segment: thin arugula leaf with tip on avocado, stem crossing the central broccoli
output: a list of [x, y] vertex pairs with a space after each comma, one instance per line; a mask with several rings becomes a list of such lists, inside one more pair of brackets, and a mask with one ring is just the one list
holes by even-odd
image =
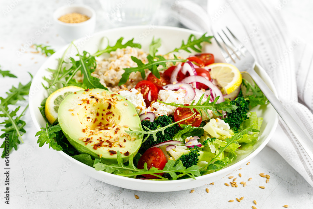
[[[180, 120], [180, 121], [177, 121], [177, 122], [175, 122], [175, 123], [171, 123], [171, 124], [169, 124], [169, 125], [167, 125], [167, 126], [164, 126], [164, 127], [159, 127], [159, 128], [157, 128], [157, 129], [155, 129], [155, 130], [151, 130], [150, 128], [144, 126], [144, 127], [148, 130], [148, 131], [145, 131], [145, 130], [142, 128], [143, 125], [142, 125], [141, 123], [139, 123], [139, 130], [138, 130], [138, 131], [133, 131], [133, 130], [131, 130], [131, 129], [129, 129], [129, 131], [127, 131], [127, 130], [125, 130], [125, 131], [126, 131], [126, 133], [129, 133], [130, 135], [136, 134], [136, 135], [138, 136], [138, 138], [142, 138], [142, 139], [143, 139], [142, 143], [144, 143], [144, 142], [146, 141], [146, 139], [149, 138], [150, 135], [152, 135], [154, 141], [156, 141], [156, 140], [157, 140], [156, 133], [158, 133], [158, 132], [161, 131], [161, 133], [162, 133], [163, 136], [164, 136], [164, 135], [165, 135], [164, 130], [165, 130], [166, 128], [171, 127], [171, 126], [175, 125], [176, 123], [180, 123], [180, 122], [182, 122], [182, 121], [184, 121], [184, 120], [187, 120], [187, 119], [193, 117], [193, 116], [196, 115], [196, 114], [197, 114], [197, 113], [195, 112], [195, 113], [193, 113], [191, 116], [189, 116], [188, 118], [184, 118], [184, 119], [182, 119], [182, 120]], [[146, 136], [146, 138], [143, 138], [145, 134], [147, 134], [147, 136]]]

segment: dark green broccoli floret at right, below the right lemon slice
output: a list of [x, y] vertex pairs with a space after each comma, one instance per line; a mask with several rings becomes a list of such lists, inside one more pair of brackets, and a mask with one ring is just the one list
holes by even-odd
[[248, 118], [249, 100], [244, 99], [242, 91], [240, 90], [238, 97], [231, 101], [230, 104], [236, 105], [238, 108], [232, 110], [232, 112], [228, 112], [227, 117], [224, 120], [235, 132], [237, 132], [243, 120]]

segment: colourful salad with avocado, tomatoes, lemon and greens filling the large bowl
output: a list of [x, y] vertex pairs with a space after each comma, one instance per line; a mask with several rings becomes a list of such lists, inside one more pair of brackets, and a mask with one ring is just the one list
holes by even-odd
[[251, 109], [267, 99], [235, 66], [202, 52], [212, 38], [191, 34], [164, 54], [158, 37], [148, 51], [122, 37], [94, 54], [70, 44], [44, 77], [39, 146], [141, 180], [195, 179], [230, 165], [254, 149], [263, 118]]

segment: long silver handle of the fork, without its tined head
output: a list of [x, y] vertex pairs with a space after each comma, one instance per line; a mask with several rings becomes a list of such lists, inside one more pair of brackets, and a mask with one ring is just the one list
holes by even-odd
[[295, 138], [299, 141], [305, 152], [309, 155], [310, 159], [313, 161], [313, 141], [307, 136], [295, 119], [289, 114], [287, 109], [283, 104], [277, 99], [274, 93], [269, 89], [269, 87], [264, 83], [262, 78], [254, 71], [254, 69], [248, 72], [253, 78], [255, 83], [259, 86], [265, 97], [269, 100], [272, 106], [275, 108], [276, 112], [280, 115], [286, 125], [289, 127], [290, 131], [295, 135]]

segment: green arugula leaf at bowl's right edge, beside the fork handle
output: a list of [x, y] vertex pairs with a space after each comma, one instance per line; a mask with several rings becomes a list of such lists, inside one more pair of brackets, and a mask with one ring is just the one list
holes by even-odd
[[254, 85], [252, 85], [249, 81], [243, 78], [242, 84], [247, 88], [246, 94], [247, 98], [250, 101], [251, 107], [255, 107], [257, 105], [264, 105], [265, 103], [268, 102], [267, 98], [265, 97], [265, 95], [255, 82]]

